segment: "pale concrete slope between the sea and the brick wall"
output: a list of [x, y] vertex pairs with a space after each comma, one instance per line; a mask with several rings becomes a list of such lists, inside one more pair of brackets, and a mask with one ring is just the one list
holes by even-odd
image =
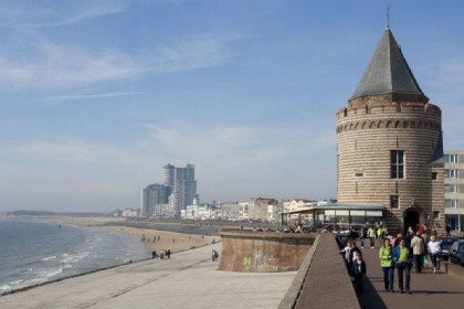
[[221, 243], [0, 297], [0, 308], [277, 308], [296, 271], [218, 269]]

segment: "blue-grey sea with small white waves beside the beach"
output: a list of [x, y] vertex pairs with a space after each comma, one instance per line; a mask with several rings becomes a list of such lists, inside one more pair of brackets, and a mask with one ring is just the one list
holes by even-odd
[[0, 295], [150, 256], [147, 245], [124, 233], [0, 221]]

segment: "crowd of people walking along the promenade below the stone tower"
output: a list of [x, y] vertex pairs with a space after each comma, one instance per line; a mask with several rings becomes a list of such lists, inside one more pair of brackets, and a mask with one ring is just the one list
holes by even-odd
[[[389, 235], [386, 227], [379, 227], [376, 231], [373, 226], [370, 226], [368, 230], [360, 230], [359, 238], [361, 249], [365, 245], [365, 238], [370, 239], [371, 248], [375, 247], [375, 238], [382, 242], [379, 249], [379, 259], [386, 291], [393, 292], [394, 269], [397, 269], [398, 287], [401, 294], [411, 294], [411, 268], [413, 266], [419, 274], [422, 271], [424, 260], [426, 262], [430, 258], [432, 270], [436, 273], [441, 247], [435, 231], [429, 236], [422, 226], [415, 233], [410, 227], [405, 236], [398, 233], [397, 237], [393, 237]], [[357, 247], [356, 241], [350, 239], [347, 246], [340, 251], [345, 254], [348, 271], [355, 283], [357, 292], [363, 292], [362, 278], [366, 276], [366, 263], [362, 260], [361, 249]]]

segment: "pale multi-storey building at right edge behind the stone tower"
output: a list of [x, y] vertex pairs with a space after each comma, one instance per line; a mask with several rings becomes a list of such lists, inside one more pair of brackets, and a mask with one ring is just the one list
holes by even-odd
[[446, 225], [464, 232], [464, 151], [445, 151], [443, 159]]

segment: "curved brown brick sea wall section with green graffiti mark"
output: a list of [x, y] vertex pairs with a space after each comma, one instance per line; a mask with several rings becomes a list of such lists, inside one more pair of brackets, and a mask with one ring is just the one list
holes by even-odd
[[221, 230], [220, 270], [278, 273], [298, 270], [316, 236], [303, 233]]

